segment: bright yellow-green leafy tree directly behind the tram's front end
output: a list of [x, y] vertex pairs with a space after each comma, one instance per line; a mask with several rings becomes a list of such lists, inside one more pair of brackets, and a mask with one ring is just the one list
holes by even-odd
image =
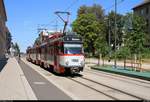
[[82, 14], [72, 25], [74, 32], [80, 34], [84, 39], [84, 48], [87, 52], [95, 54], [94, 42], [101, 32], [101, 25], [97, 22], [95, 15]]

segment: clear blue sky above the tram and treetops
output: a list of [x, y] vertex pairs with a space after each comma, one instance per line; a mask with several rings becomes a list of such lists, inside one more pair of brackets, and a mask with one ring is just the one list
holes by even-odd
[[[115, 0], [4, 0], [7, 27], [12, 35], [12, 41], [19, 44], [21, 52], [26, 52], [28, 46], [32, 46], [38, 37], [38, 28], [55, 30], [56, 21], [58, 29], [63, 29], [63, 22], [54, 14], [55, 11], [69, 11], [69, 22], [77, 17], [77, 10], [82, 5], [92, 6], [99, 4], [108, 14], [114, 10]], [[143, 0], [117, 0], [117, 12], [126, 14]], [[64, 16], [65, 17], [65, 16]]]

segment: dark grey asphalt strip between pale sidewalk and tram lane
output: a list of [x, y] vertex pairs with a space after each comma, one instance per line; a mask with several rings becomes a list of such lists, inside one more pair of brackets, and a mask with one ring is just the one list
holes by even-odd
[[38, 100], [72, 100], [23, 61], [19, 64]]

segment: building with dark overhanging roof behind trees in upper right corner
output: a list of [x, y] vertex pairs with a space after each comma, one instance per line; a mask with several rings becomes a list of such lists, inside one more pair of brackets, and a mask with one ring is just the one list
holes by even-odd
[[146, 20], [146, 45], [150, 46], [150, 0], [144, 0], [141, 4], [133, 8], [134, 13], [142, 16]]

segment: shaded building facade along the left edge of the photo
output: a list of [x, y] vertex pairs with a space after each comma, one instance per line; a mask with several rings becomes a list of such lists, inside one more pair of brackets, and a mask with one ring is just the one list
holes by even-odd
[[4, 1], [0, 0], [0, 58], [3, 58], [6, 53], [6, 41], [7, 41], [6, 21], [7, 16]]

